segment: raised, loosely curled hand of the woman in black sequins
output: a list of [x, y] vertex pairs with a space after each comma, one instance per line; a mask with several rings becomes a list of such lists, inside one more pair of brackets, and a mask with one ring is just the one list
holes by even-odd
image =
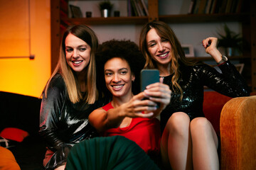
[[222, 55], [217, 49], [217, 42], [218, 42], [218, 38], [210, 37], [203, 40], [202, 43], [203, 43], [203, 47], [205, 47], [206, 49], [206, 53], [211, 55], [214, 58], [215, 62], [218, 63], [222, 59]]

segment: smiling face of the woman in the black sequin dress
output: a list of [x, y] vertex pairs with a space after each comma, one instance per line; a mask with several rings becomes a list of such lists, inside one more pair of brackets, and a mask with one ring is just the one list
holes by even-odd
[[171, 62], [171, 43], [165, 38], [159, 37], [155, 28], [146, 34], [146, 43], [149, 54], [157, 65], [169, 65]]

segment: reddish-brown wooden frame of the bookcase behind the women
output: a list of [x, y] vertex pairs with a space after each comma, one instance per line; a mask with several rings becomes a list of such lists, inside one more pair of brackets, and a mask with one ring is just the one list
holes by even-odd
[[[70, 0], [74, 1], [74, 0]], [[86, 0], [76, 0], [86, 1]], [[110, 0], [111, 1], [111, 0]], [[112, 0], [114, 1], [114, 0]], [[118, 1], [118, 0], [115, 0]], [[127, 0], [128, 1], [128, 0]], [[250, 43], [250, 50], [242, 56], [230, 57], [230, 60], [245, 62], [245, 77], [252, 91], [256, 91], [256, 3], [250, 0], [250, 10], [241, 13], [193, 13], [178, 15], [159, 15], [159, 1], [147, 0], [149, 16], [121, 16], [121, 17], [92, 17], [92, 18], [68, 18], [68, 0], [50, 0], [51, 23], [51, 68], [52, 72], [58, 62], [60, 38], [63, 30], [71, 24], [88, 24], [95, 26], [106, 25], [143, 25], [148, 21], [160, 20], [166, 23], [214, 23], [237, 21], [242, 23], [242, 35]], [[193, 0], [191, 0], [193, 1]], [[202, 0], [201, 0], [202, 1]], [[204, 1], [204, 0], [203, 0]], [[207, 0], [215, 1], [215, 0]], [[226, 0], [230, 1], [230, 0]], [[250, 12], [249, 12], [250, 11]], [[211, 60], [210, 57], [194, 57], [196, 60]]]

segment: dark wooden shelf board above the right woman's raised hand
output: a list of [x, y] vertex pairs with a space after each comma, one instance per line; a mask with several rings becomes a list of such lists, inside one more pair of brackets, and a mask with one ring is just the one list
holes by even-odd
[[160, 21], [166, 23], [210, 23], [220, 21], [239, 21], [243, 23], [250, 22], [249, 13], [216, 13], [216, 14], [182, 14], [159, 16]]

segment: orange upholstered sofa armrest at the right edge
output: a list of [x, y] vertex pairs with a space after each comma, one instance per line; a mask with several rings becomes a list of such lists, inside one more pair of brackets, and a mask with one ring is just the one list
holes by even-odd
[[233, 98], [220, 114], [221, 169], [255, 169], [256, 96]]

